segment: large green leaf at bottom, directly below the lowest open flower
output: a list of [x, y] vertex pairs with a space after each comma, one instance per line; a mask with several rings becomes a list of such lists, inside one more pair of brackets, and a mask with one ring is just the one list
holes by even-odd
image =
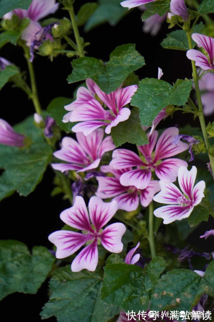
[[55, 270], [50, 280], [52, 295], [41, 318], [56, 316], [58, 322], [107, 321], [119, 309], [100, 299], [102, 279], [97, 272], [71, 271], [71, 266]]

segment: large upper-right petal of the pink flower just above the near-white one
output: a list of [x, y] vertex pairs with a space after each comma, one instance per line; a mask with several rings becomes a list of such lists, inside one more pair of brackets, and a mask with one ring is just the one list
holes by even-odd
[[176, 146], [172, 144], [172, 139], [179, 134], [178, 128], [167, 128], [159, 137], [155, 148], [154, 163], [158, 160], [175, 156], [189, 148], [189, 145], [184, 142], [179, 142]]

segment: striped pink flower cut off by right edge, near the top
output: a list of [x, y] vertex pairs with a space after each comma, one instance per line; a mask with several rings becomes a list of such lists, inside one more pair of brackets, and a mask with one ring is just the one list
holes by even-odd
[[195, 61], [195, 65], [201, 67], [205, 71], [214, 69], [214, 38], [202, 35], [200, 33], [193, 33], [192, 38], [197, 43], [198, 47], [202, 47], [206, 50], [209, 59], [202, 52], [199, 52], [195, 49], [190, 49], [187, 51], [187, 58]]

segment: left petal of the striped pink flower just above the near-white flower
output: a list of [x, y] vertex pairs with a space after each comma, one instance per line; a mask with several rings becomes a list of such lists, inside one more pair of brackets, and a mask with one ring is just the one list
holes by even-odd
[[116, 149], [112, 154], [112, 161], [109, 166], [112, 169], [123, 169], [129, 166], [145, 165], [139, 156], [131, 150]]

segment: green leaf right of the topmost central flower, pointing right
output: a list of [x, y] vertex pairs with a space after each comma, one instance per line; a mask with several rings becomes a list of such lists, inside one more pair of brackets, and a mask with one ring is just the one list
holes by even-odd
[[158, 113], [169, 104], [184, 105], [190, 95], [192, 81], [174, 87], [166, 81], [145, 78], [132, 97], [131, 105], [139, 107], [141, 124], [149, 126]]

